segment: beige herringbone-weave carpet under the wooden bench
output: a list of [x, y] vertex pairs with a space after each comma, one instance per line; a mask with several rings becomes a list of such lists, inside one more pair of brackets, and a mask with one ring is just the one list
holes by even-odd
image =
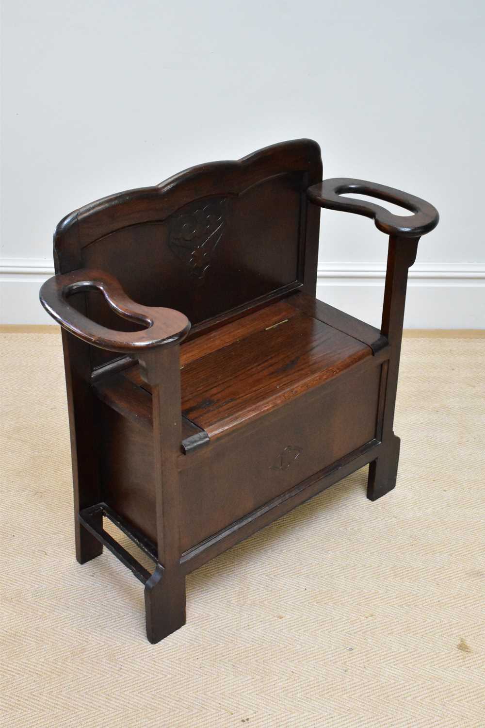
[[406, 338], [396, 490], [361, 470], [194, 572], [157, 646], [129, 571], [74, 559], [60, 337], [1, 356], [6, 726], [485, 726], [485, 339]]

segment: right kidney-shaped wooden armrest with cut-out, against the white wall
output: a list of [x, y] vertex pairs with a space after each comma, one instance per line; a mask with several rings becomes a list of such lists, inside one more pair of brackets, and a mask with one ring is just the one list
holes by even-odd
[[[348, 192], [368, 194], [369, 197], [393, 202], [394, 205], [400, 205], [414, 215], [393, 215], [385, 207], [376, 205], [374, 202], [342, 197], [342, 194]], [[311, 202], [320, 207], [328, 207], [329, 210], [345, 210], [348, 213], [374, 218], [375, 226], [388, 235], [420, 237], [436, 228], [439, 221], [438, 210], [425, 199], [365, 180], [335, 177], [309, 187], [307, 194]]]

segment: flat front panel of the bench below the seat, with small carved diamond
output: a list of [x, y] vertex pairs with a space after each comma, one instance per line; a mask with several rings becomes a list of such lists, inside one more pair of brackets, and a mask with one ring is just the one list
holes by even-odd
[[183, 552], [374, 440], [379, 381], [379, 367], [356, 367], [342, 387], [318, 387], [209, 446], [212, 457], [180, 473]]

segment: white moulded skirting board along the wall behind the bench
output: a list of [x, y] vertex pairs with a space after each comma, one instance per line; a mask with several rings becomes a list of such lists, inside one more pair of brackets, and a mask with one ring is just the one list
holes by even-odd
[[[43, 258], [3, 258], [0, 323], [48, 324], [39, 303], [41, 283], [54, 274]], [[317, 296], [380, 325], [385, 264], [318, 264]], [[405, 328], [485, 328], [485, 264], [416, 263], [409, 270]]]

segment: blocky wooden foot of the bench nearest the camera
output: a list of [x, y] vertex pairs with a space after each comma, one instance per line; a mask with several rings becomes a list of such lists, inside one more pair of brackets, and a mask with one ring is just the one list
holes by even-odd
[[145, 584], [148, 641], [156, 644], [185, 625], [185, 576], [157, 566]]

